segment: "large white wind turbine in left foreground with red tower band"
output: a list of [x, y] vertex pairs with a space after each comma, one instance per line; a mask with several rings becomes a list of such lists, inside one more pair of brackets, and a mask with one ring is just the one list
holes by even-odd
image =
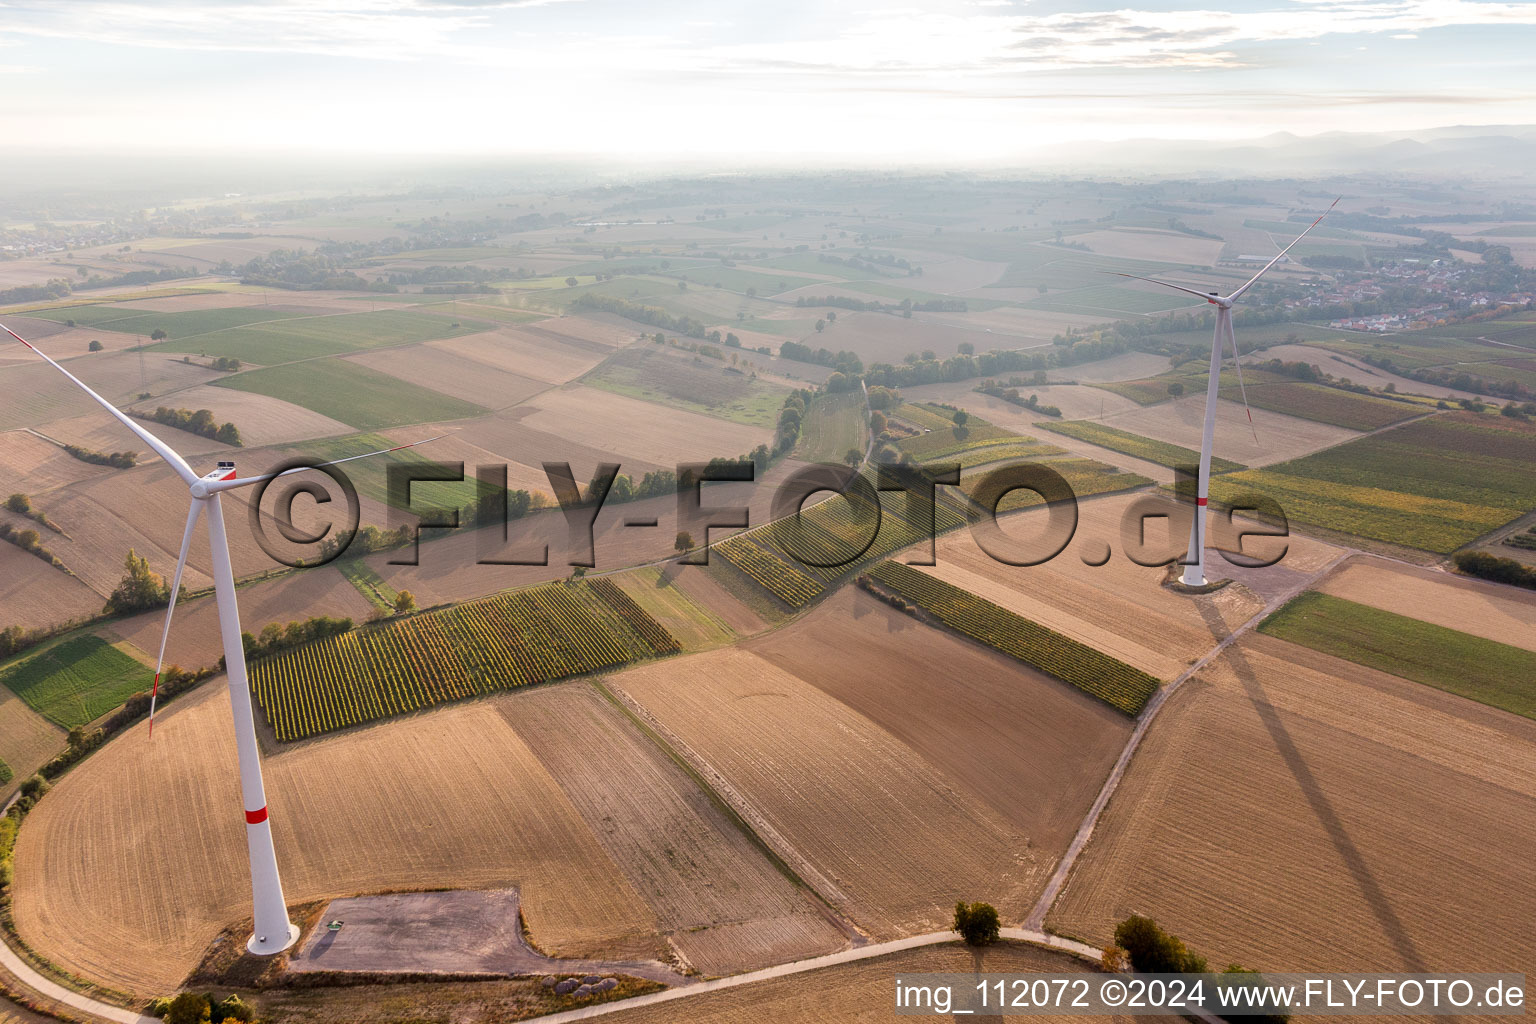
[[155, 688], [149, 705], [149, 732], [155, 729], [155, 699], [160, 695], [160, 668], [166, 657], [166, 639], [170, 636], [170, 614], [177, 608], [177, 594], [181, 590], [181, 571], [186, 568], [187, 548], [192, 545], [192, 528], [200, 516], [207, 514], [209, 553], [214, 560], [214, 599], [218, 605], [218, 629], [224, 642], [224, 671], [229, 676], [229, 708], [235, 717], [235, 751], [240, 758], [240, 795], [246, 811], [246, 847], [250, 854], [250, 897], [255, 904], [255, 930], [246, 943], [246, 949], [258, 956], [281, 953], [298, 941], [298, 927], [289, 921], [287, 904], [283, 900], [283, 881], [278, 877], [276, 851], [272, 847], [272, 823], [267, 820], [266, 786], [261, 781], [261, 752], [257, 748], [257, 726], [250, 711], [250, 683], [246, 677], [246, 648], [240, 634], [240, 608], [235, 603], [235, 571], [229, 560], [229, 537], [224, 533], [224, 510], [220, 507], [220, 494], [249, 487], [261, 481], [270, 481], [289, 473], [303, 473], [306, 468], [319, 465], [336, 465], [355, 459], [367, 459], [375, 454], [413, 448], [436, 438], [416, 441], [396, 448], [384, 448], [367, 454], [355, 454], [333, 462], [323, 462], [315, 467], [301, 467], [284, 473], [267, 473], [264, 476], [235, 477], [233, 462], [220, 462], [218, 468], [204, 476], [198, 476], [186, 459], [175, 453], [164, 441], [154, 436], [141, 425], [129, 419], [121, 410], [92, 391], [74, 373], [63, 368], [45, 353], [38, 352], [29, 341], [22, 338], [5, 324], [0, 330], [11, 335], [23, 345], [41, 356], [48, 365], [69, 378], [81, 391], [94, 398], [118, 422], [132, 430], [147, 444], [155, 454], [175, 470], [177, 476], [187, 485], [192, 496], [192, 508], [187, 511], [186, 533], [181, 534], [181, 554], [177, 557], [177, 573], [170, 583], [170, 605], [166, 608], [166, 626], [160, 636], [160, 657], [155, 662]]

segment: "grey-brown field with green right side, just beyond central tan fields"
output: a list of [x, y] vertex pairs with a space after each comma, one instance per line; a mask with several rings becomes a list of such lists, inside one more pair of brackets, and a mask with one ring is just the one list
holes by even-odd
[[673, 408], [717, 416], [751, 427], [773, 428], [788, 390], [731, 362], [733, 348], [720, 348], [725, 359], [670, 352], [659, 345], [616, 352], [598, 370], [582, 378], [585, 387], [644, 399]]

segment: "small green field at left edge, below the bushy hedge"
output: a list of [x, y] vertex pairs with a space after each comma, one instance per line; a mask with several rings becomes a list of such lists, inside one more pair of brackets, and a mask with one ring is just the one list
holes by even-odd
[[0, 685], [65, 729], [100, 718], [152, 680], [154, 672], [95, 634], [23, 654], [0, 669]]

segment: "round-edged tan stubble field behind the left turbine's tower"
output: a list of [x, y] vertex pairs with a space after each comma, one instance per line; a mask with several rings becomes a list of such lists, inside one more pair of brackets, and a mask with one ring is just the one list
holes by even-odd
[[[141, 996], [177, 987], [250, 912], [223, 682], [174, 702], [155, 734], [111, 742], [34, 808], [12, 887], [34, 949]], [[266, 777], [293, 903], [516, 886], [545, 953], [660, 952], [644, 900], [495, 700], [300, 745]]]

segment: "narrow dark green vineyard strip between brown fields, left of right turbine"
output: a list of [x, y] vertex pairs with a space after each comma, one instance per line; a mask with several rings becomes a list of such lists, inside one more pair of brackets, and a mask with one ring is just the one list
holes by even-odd
[[1160, 685], [1138, 668], [928, 573], [899, 562], [882, 562], [869, 570], [869, 576], [951, 629], [1049, 672], [1129, 715], [1140, 714]]

